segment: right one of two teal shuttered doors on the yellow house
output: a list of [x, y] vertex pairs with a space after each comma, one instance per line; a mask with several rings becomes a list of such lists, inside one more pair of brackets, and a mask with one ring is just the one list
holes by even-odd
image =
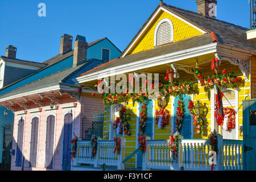
[[[188, 104], [189, 101], [191, 100], [191, 96], [188, 95], [183, 95], [183, 102], [184, 102], [184, 121], [183, 121], [183, 125], [181, 126], [181, 130], [180, 130], [180, 134], [184, 137], [184, 139], [190, 139], [191, 138], [191, 125], [192, 125], [192, 121], [191, 121], [191, 114], [189, 113], [188, 110]], [[177, 103], [179, 102], [179, 96], [177, 96], [174, 100], [174, 127], [173, 129], [175, 130], [175, 121], [176, 121], [176, 111], [177, 111]]]

